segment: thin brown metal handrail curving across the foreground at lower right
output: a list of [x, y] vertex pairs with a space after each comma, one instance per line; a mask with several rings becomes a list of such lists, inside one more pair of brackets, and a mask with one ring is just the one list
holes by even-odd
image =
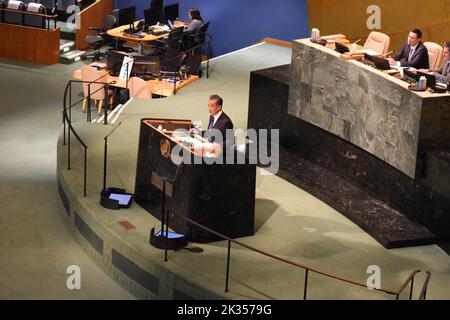
[[[194, 221], [194, 220], [192, 220], [192, 219], [190, 219], [190, 218], [188, 218], [186, 216], [183, 216], [183, 215], [180, 215], [180, 214], [177, 214], [177, 213], [174, 213], [174, 214], [177, 215], [178, 217], [181, 217], [182, 219], [188, 221], [189, 223], [191, 223], [193, 225], [196, 225], [197, 227], [199, 227], [199, 228], [201, 228], [201, 229], [203, 229], [205, 231], [208, 231], [208, 232], [210, 232], [210, 233], [212, 233], [212, 234], [214, 234], [214, 235], [216, 235], [216, 236], [218, 236], [218, 237], [228, 241], [227, 273], [226, 273], [225, 292], [228, 292], [228, 287], [229, 287], [229, 285], [228, 285], [229, 281], [228, 280], [229, 280], [229, 264], [230, 264], [230, 254], [231, 254], [230, 253], [231, 243], [237, 244], [237, 245], [239, 245], [241, 247], [244, 247], [244, 248], [249, 249], [249, 250], [251, 250], [253, 252], [262, 254], [264, 256], [270, 257], [272, 259], [275, 259], [275, 260], [278, 260], [278, 261], [290, 264], [292, 266], [304, 269], [306, 271], [305, 272], [304, 294], [303, 294], [303, 299], [304, 300], [306, 300], [306, 297], [307, 297], [307, 285], [308, 285], [308, 274], [309, 274], [309, 271], [317, 273], [317, 274], [320, 274], [322, 276], [326, 276], [326, 277], [335, 279], [335, 280], [339, 280], [339, 281], [343, 281], [343, 282], [346, 282], [346, 283], [350, 283], [350, 284], [353, 284], [353, 285], [357, 285], [357, 286], [361, 286], [361, 287], [367, 288], [367, 284], [366, 283], [363, 283], [363, 282], [360, 282], [360, 281], [356, 281], [356, 280], [353, 280], [353, 279], [349, 279], [349, 278], [346, 278], [346, 277], [342, 277], [342, 276], [339, 276], [339, 275], [336, 275], [336, 274], [320, 271], [318, 269], [311, 268], [309, 266], [306, 266], [306, 265], [303, 265], [303, 264], [300, 264], [300, 263], [297, 263], [297, 262], [294, 262], [294, 261], [290, 261], [288, 259], [276, 256], [276, 255], [273, 255], [271, 253], [265, 252], [265, 251], [260, 250], [258, 248], [255, 248], [255, 247], [252, 247], [252, 246], [247, 245], [245, 243], [242, 243], [242, 242], [240, 242], [238, 240], [232, 239], [232, 238], [230, 238], [230, 237], [228, 237], [226, 235], [223, 235], [223, 234], [221, 234], [221, 233], [219, 233], [217, 231], [214, 231], [214, 230], [212, 230], [212, 229], [210, 229], [210, 228], [208, 228], [208, 227], [206, 227], [206, 226], [204, 226], [204, 225], [202, 225], [202, 224], [200, 224], [200, 223], [198, 223], [198, 222], [196, 222], [196, 221]], [[167, 252], [167, 248], [166, 248], [166, 252]], [[388, 290], [388, 289], [383, 289], [383, 288], [373, 288], [373, 290], [384, 292], [384, 293], [390, 294], [390, 295], [394, 295], [396, 297], [396, 300], [398, 300], [399, 296], [403, 293], [403, 291], [408, 286], [408, 284], [411, 283], [411, 292], [410, 292], [410, 300], [411, 300], [411, 298], [412, 298], [412, 290], [413, 290], [413, 285], [412, 284], [414, 282], [414, 277], [419, 272], [421, 272], [421, 270], [414, 270], [413, 272], [411, 272], [411, 274], [408, 276], [408, 278], [402, 283], [402, 285], [397, 290]]]

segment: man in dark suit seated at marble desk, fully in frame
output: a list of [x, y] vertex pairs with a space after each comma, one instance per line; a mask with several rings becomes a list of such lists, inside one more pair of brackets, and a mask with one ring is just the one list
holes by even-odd
[[391, 66], [413, 67], [416, 69], [428, 69], [428, 50], [423, 45], [422, 31], [411, 30], [408, 34], [408, 42], [403, 46], [399, 55], [389, 58]]

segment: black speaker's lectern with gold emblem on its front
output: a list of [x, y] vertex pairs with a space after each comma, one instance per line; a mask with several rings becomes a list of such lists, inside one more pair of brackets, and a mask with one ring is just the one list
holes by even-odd
[[[159, 126], [167, 131], [158, 130]], [[193, 139], [200, 139], [200, 143], [189, 147], [171, 135], [175, 129], [190, 127], [191, 121], [141, 120], [136, 203], [161, 219], [162, 180], [158, 173], [164, 167], [165, 171], [176, 172], [173, 181], [166, 182], [166, 210], [173, 230], [194, 242], [222, 240], [177, 216], [182, 215], [231, 238], [253, 235], [256, 165], [203, 162], [206, 151], [219, 155], [213, 144], [196, 136]], [[186, 152], [190, 163], [183, 161], [177, 166], [171, 161], [169, 154], [175, 146]]]

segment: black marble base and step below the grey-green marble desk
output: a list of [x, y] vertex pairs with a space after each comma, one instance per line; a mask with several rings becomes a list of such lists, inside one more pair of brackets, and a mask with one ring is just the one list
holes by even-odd
[[422, 151], [418, 170], [425, 173], [418, 175], [426, 179], [410, 179], [350, 142], [289, 115], [289, 74], [285, 65], [255, 71], [251, 80], [248, 127], [280, 128], [280, 144], [286, 148], [280, 149], [279, 175], [325, 201], [386, 248], [446, 243], [445, 214], [430, 216], [439, 210], [435, 208], [445, 212], [449, 202], [448, 152], [442, 151], [442, 143]]

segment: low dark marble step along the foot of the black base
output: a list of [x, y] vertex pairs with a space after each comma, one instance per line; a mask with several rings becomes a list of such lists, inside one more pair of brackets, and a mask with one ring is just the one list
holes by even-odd
[[277, 176], [324, 201], [387, 249], [437, 242], [437, 237], [427, 228], [357, 184], [283, 147], [280, 147], [280, 170]]

